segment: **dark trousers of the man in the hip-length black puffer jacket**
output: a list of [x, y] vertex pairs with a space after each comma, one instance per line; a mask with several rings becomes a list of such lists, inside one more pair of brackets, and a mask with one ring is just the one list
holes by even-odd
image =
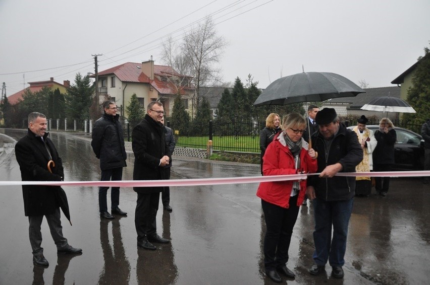
[[[123, 179], [123, 168], [112, 168], [101, 171], [101, 181], [121, 181]], [[109, 187], [98, 188], [98, 207], [100, 212], [108, 211], [108, 201], [106, 195]], [[115, 209], [120, 204], [120, 187], [111, 187], [111, 209]]]

